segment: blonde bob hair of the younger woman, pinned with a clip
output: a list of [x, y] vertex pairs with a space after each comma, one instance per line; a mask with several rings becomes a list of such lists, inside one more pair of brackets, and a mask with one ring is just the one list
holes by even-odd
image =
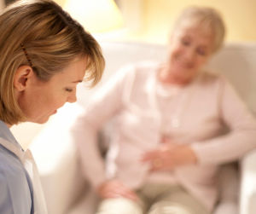
[[21, 0], [0, 14], [0, 119], [7, 124], [26, 121], [15, 98], [15, 72], [30, 66], [20, 46], [23, 43], [33, 72], [49, 81], [73, 61], [88, 59], [84, 81], [90, 87], [102, 78], [102, 49], [89, 32], [51, 0]]

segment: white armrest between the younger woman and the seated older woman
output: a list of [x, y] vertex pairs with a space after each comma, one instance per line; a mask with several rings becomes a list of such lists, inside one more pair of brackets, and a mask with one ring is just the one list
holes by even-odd
[[82, 111], [79, 104], [67, 103], [50, 118], [31, 144], [51, 213], [65, 213], [86, 188], [70, 132]]

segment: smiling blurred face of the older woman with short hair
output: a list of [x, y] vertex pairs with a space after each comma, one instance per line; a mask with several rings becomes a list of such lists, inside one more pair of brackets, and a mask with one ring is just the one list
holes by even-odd
[[173, 78], [189, 81], [212, 54], [213, 35], [201, 26], [181, 26], [170, 41], [168, 70]]

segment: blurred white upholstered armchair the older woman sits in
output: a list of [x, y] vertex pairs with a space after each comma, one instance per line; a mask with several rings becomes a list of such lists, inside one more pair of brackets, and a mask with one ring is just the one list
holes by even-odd
[[[107, 66], [102, 83], [96, 89], [126, 63], [163, 60], [167, 51], [166, 46], [146, 43], [101, 44]], [[256, 113], [256, 43], [226, 44], [224, 49], [212, 58], [208, 66], [230, 79], [251, 111]], [[49, 211], [53, 214], [89, 214], [96, 205], [96, 194], [81, 175], [79, 158], [73, 136], [69, 131], [96, 89], [87, 90], [84, 85], [79, 85], [78, 102], [66, 104], [41, 130], [31, 133], [36, 136], [31, 144], [32, 153], [41, 174]], [[21, 125], [26, 126], [26, 124]], [[215, 213], [236, 214], [238, 213], [236, 201], [238, 176], [232, 168], [223, 171], [224, 175], [231, 177], [231, 180], [222, 185], [222, 200]], [[241, 177], [240, 213], [255, 214], [256, 150], [247, 153], [241, 160]], [[226, 179], [224, 176], [223, 180]]]

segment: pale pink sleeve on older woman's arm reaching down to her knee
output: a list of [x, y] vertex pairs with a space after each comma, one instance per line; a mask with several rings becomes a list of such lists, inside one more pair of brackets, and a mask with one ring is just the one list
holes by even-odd
[[107, 180], [105, 164], [98, 147], [97, 133], [109, 119], [121, 109], [122, 96], [127, 76], [131, 76], [134, 68], [123, 67], [93, 95], [88, 107], [76, 124], [72, 132], [79, 148], [80, 160], [86, 179], [96, 188]]

